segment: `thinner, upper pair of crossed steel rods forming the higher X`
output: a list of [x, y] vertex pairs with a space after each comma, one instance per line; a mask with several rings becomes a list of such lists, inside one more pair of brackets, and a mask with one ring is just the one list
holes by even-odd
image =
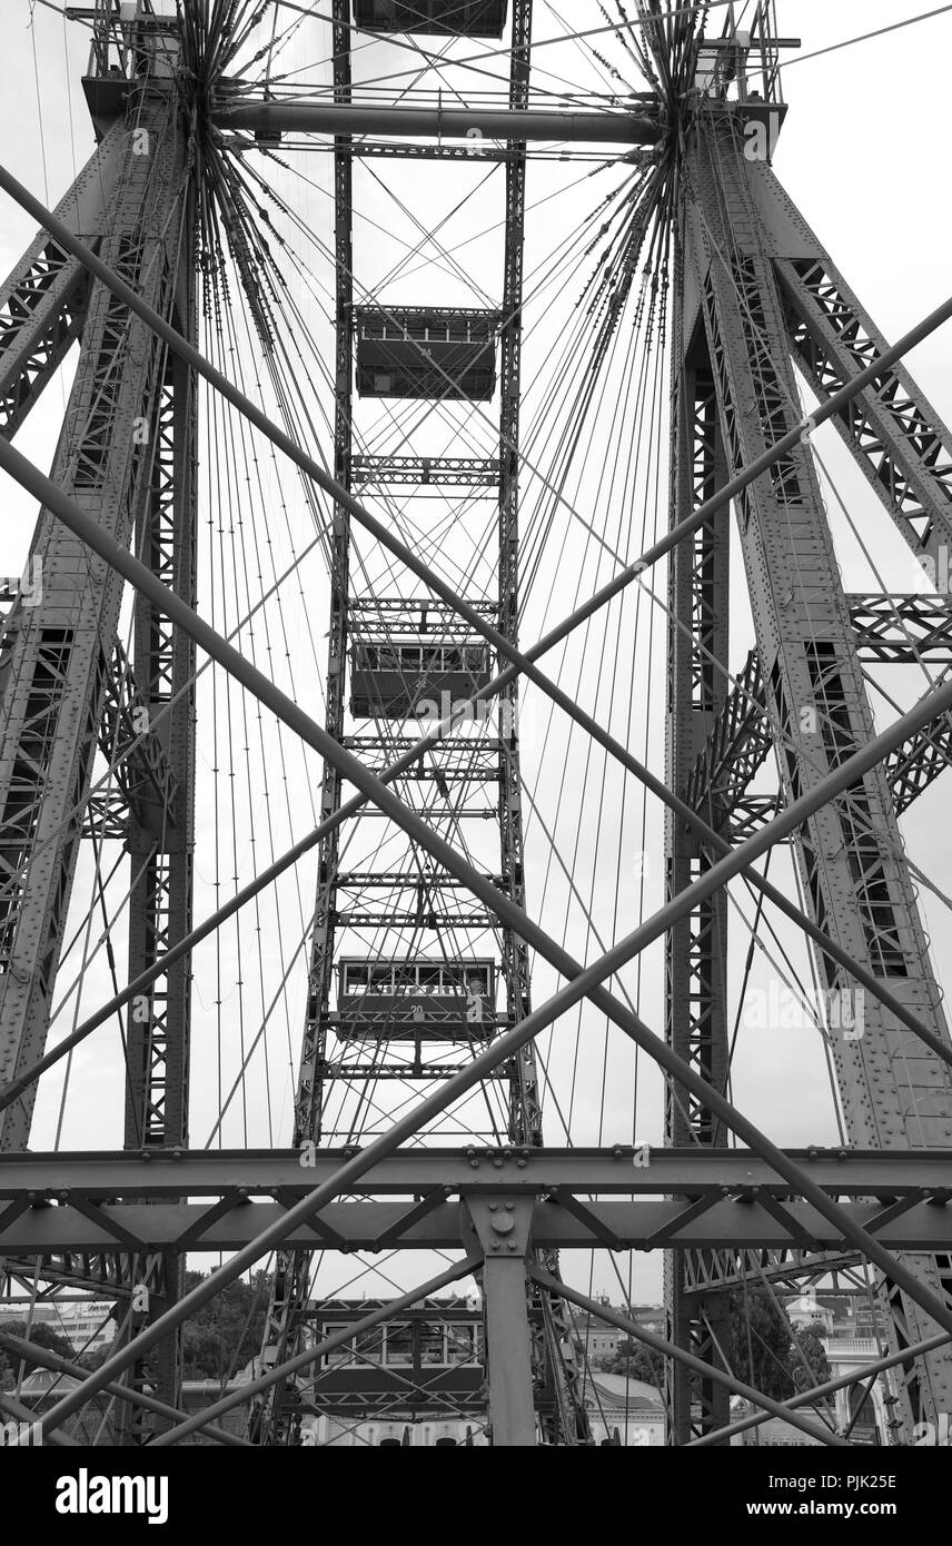
[[[209, 362], [199, 354], [199, 351], [195, 349], [190, 343], [187, 343], [187, 340], [184, 340], [181, 334], [175, 331], [175, 328], [165, 323], [164, 318], [158, 315], [158, 312], [155, 312], [150, 306], [147, 306], [134, 294], [134, 291], [131, 291], [127, 284], [124, 284], [122, 280], [116, 278], [116, 275], [111, 274], [110, 269], [105, 264], [102, 264], [93, 252], [90, 252], [60, 221], [57, 221], [54, 215], [45, 210], [43, 206], [37, 199], [34, 199], [32, 195], [25, 187], [22, 187], [22, 184], [17, 182], [17, 179], [12, 178], [9, 172], [6, 172], [3, 167], [0, 167], [0, 187], [3, 187], [25, 209], [28, 209], [29, 213], [40, 224], [46, 224], [48, 227], [51, 227], [57, 237], [57, 241], [60, 241], [63, 246], [73, 250], [80, 258], [80, 261], [87, 267], [90, 267], [90, 271], [99, 280], [102, 280], [104, 284], [107, 284], [107, 288], [110, 288], [116, 295], [119, 295], [130, 306], [131, 311], [141, 315], [142, 320], [145, 320], [153, 328], [153, 331], [156, 331], [170, 345], [173, 352], [176, 352], [181, 359], [184, 359], [189, 365], [192, 365], [193, 369], [196, 369], [201, 376], [204, 376], [206, 380], [209, 380], [213, 386], [216, 386], [216, 390], [221, 391], [221, 394], [229, 402], [232, 402], [244, 417], [247, 417], [266, 438], [269, 438], [303, 472], [306, 472], [308, 476], [318, 484], [318, 487], [321, 487], [326, 493], [332, 495], [334, 499], [343, 509], [346, 509], [362, 526], [365, 526], [371, 532], [371, 535], [377, 538], [377, 541], [382, 543], [382, 546], [388, 547], [397, 558], [400, 558], [402, 563], [406, 564], [408, 569], [411, 569], [413, 574], [416, 574], [420, 580], [423, 580], [423, 583], [428, 584], [448, 606], [451, 606], [462, 617], [465, 617], [467, 621], [470, 621], [471, 626], [479, 634], [482, 634], [490, 643], [495, 645], [495, 648], [499, 651], [501, 656], [505, 656], [510, 662], [513, 662], [493, 682], [490, 682], [487, 688], [473, 694], [474, 699], [490, 697], [499, 693], [502, 686], [512, 682], [519, 674], [519, 671], [522, 671], [536, 686], [539, 686], [541, 691], [544, 691], [555, 703], [558, 703], [559, 708], [563, 708], [567, 714], [570, 714], [570, 717], [575, 719], [576, 724], [580, 724], [589, 734], [595, 736], [595, 739], [598, 739], [601, 745], [610, 750], [612, 754], [617, 756], [637, 778], [646, 782], [646, 785], [654, 793], [657, 793], [658, 798], [669, 805], [669, 809], [672, 809], [685, 821], [691, 822], [694, 826], [694, 830], [697, 830], [703, 836], [705, 843], [709, 843], [720, 853], [729, 852], [729, 847], [723, 838], [716, 835], [688, 805], [677, 801], [675, 796], [669, 790], [666, 790], [666, 787], [661, 784], [660, 779], [655, 779], [646, 768], [643, 768], [641, 764], [635, 758], [632, 758], [624, 747], [621, 747], [612, 736], [609, 736], [607, 731], [604, 731], [590, 716], [587, 716], [583, 710], [580, 710], [578, 705], [566, 693], [563, 693], [563, 690], [558, 688], [556, 683], [553, 683], [547, 676], [544, 676], [544, 673], [541, 673], [532, 662], [538, 656], [544, 654], [547, 649], [553, 648], [558, 642], [561, 642], [561, 638], [564, 638], [569, 632], [572, 632], [572, 629], [575, 629], [580, 623], [583, 623], [603, 604], [612, 600], [612, 597], [620, 594], [620, 591], [623, 591], [627, 584], [638, 580], [638, 577], [644, 572], [644, 569], [657, 563], [677, 543], [683, 541], [686, 536], [695, 532], [706, 519], [709, 519], [709, 516], [716, 510], [722, 509], [736, 493], [739, 493], [757, 476], [760, 476], [760, 473], [763, 473], [777, 458], [784, 456], [790, 450], [794, 450], [801, 441], [799, 430], [791, 430], [788, 434], [782, 436], [776, 442], [776, 445], [773, 445], [768, 451], [765, 451], [754, 462], [751, 462], [751, 465], [745, 468], [743, 473], [739, 473], [734, 478], [731, 478], [719, 490], [719, 493], [716, 493], [711, 499], [699, 506], [699, 509], [691, 516], [686, 516], [683, 521], [680, 521], [678, 526], [674, 527], [671, 532], [668, 532], [665, 536], [658, 538], [658, 541], [655, 541], [652, 547], [649, 547], [646, 553], [635, 564], [620, 570], [620, 574], [615, 575], [614, 580], [610, 580], [606, 586], [603, 586], [601, 591], [595, 592], [593, 597], [590, 597], [586, 603], [583, 603], [583, 606], [580, 606], [569, 618], [566, 618], [564, 623], [552, 629], [532, 649], [519, 651], [505, 638], [505, 635], [499, 634], [495, 628], [488, 625], [488, 621], [478, 608], [470, 608], [461, 597], [457, 597], [447, 584], [444, 584], [442, 580], [439, 580], [439, 577], [430, 569], [430, 566], [420, 563], [420, 560], [408, 547], [405, 547], [405, 544], [400, 543], [399, 538], [393, 536], [393, 533], [382, 523], [379, 523], [372, 515], [369, 515], [369, 512], [365, 510], [363, 506], [357, 499], [354, 499], [346, 489], [343, 489], [338, 482], [335, 482], [335, 479], [329, 478], [328, 473], [300, 447], [297, 447], [294, 441], [289, 439], [287, 434], [284, 434], [281, 430], [272, 425], [270, 421], [266, 417], [266, 414], [261, 413], [261, 410], [258, 410], [243, 393], [240, 393], [219, 371], [215, 369], [215, 366], [209, 365]], [[867, 386], [870, 382], [876, 380], [887, 365], [890, 365], [893, 360], [899, 359], [904, 352], [913, 348], [918, 342], [921, 342], [923, 337], [935, 331], [935, 328], [938, 328], [950, 315], [952, 315], [952, 300], [946, 301], [927, 318], [924, 318], [923, 323], [920, 323], [903, 339], [899, 339], [899, 342], [895, 343], [890, 349], [887, 349], [884, 356], [881, 356], [876, 362], [873, 362], [865, 371], [861, 371], [858, 376], [855, 376], [847, 383], [847, 386], [844, 386], [839, 393], [830, 397], [827, 404], [818, 408], [818, 411], [813, 414], [813, 424], [814, 425], [821, 424], [825, 417], [830, 417], [833, 413], [838, 413], [848, 399], [852, 399], [856, 393], [862, 391], [864, 386]], [[927, 720], [918, 722], [915, 730], [920, 730], [921, 725], [926, 722]], [[440, 733], [442, 728], [444, 727], [440, 727]], [[430, 745], [433, 745], [434, 741], [437, 739], [439, 734], [425, 737], [420, 742], [417, 742], [417, 747], [413, 751], [410, 751], [405, 758], [402, 758], [397, 764], [393, 765], [389, 775], [386, 775], [388, 781], [389, 778], [399, 776], [400, 771], [410, 767], [417, 759], [417, 756], [422, 756], [425, 750]], [[284, 856], [284, 860], [278, 861], [275, 866], [270, 866], [266, 875], [269, 878], [275, 878], [278, 873], [281, 873], [283, 869], [286, 869], [291, 863], [294, 863], [294, 858], [300, 856], [311, 846], [314, 846], [326, 832], [332, 830], [332, 827], [337, 826], [338, 821], [345, 819], [355, 809], [359, 809], [360, 804], [362, 801], [355, 798], [352, 801], [348, 801], [345, 805], [338, 807], [338, 810], [326, 822], [321, 822], [321, 826], [312, 835], [303, 839], [301, 844], [295, 844], [295, 847]], [[835, 959], [839, 965], [845, 966], [845, 969], [850, 971], [864, 988], [873, 993], [884, 1003], [884, 1006], [889, 1008], [927, 1047], [930, 1047], [930, 1050], [935, 1051], [937, 1056], [943, 1057], [946, 1062], [950, 1061], [949, 1048], [946, 1048], [946, 1045], [938, 1037], [935, 1037], [933, 1033], [929, 1031], [929, 1028], [924, 1027], [921, 1020], [913, 1014], [913, 1011], [904, 1003], [901, 1003], [901, 1000], [896, 999], [895, 994], [892, 994], [884, 986], [884, 983], [875, 979], [847, 952], [844, 952], [833, 938], [830, 938], [822, 929], [818, 929], [818, 926], [804, 914], [801, 914], [799, 909], [793, 908], [791, 903], [782, 895], [782, 892], [773, 887], [768, 881], [763, 881], [760, 877], [754, 873], [751, 873], [748, 878], [754, 886], [757, 886], [763, 892], [763, 895], [770, 897], [770, 900], [776, 906], [779, 906], [791, 918], [794, 918], [794, 921], [797, 921], [797, 925], [804, 928], [818, 945], [821, 945], [825, 954]], [[263, 880], [263, 883], [266, 884], [267, 881]], [[241, 906], [246, 900], [255, 895], [258, 889], [260, 889], [258, 881], [252, 883], [241, 894], [241, 898], [233, 898], [230, 904], [226, 904], [226, 909], [221, 909], [215, 915], [215, 918], [221, 921], [226, 915], [236, 911], [238, 906]], [[209, 920], [206, 925], [201, 926], [201, 937], [206, 937], [206, 934], [212, 932], [212, 929], [215, 928], [215, 918]], [[184, 940], [178, 946], [178, 952], [184, 954], [185, 949], [189, 949], [196, 942], [198, 942], [198, 931], [195, 935], [192, 935], [190, 940]], [[164, 957], [164, 960], [168, 963], [168, 957]], [[147, 985], [148, 980], [150, 979], [145, 974], [141, 976], [136, 980], [134, 991], [142, 991], [142, 988]], [[51, 1059], [56, 1061], [57, 1056], [62, 1056], [68, 1050], [68, 1045], [74, 1045], [76, 1040], [82, 1039], [83, 1034], [88, 1034], [88, 1031], [91, 1031], [97, 1023], [102, 1023], [102, 1020], [108, 1017], [108, 1013], [111, 1013], [111, 1010], [114, 1010], [117, 1003], [125, 1002], [128, 997], [131, 997], [131, 989], [127, 989], [125, 996], [117, 996], [113, 1000], [110, 1010], [100, 1011], [97, 1016], [93, 1016], [91, 1020], [88, 1020], [83, 1027], [79, 1027], [71, 1037], [60, 1042], [53, 1054], [46, 1054], [34, 1065], [34, 1068], [25, 1078], [15, 1081], [14, 1085], [8, 1087], [8, 1090], [0, 1096], [0, 1110], [3, 1108], [5, 1104], [9, 1104], [12, 1098], [19, 1096], [25, 1088], [28, 1088], [29, 1084], [34, 1081], [34, 1078], [40, 1071], [43, 1071], [43, 1068], [51, 1065]]]

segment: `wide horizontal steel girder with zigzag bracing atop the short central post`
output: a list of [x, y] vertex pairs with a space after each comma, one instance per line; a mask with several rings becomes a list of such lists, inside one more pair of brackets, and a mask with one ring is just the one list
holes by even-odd
[[[5, 1155], [0, 1158], [0, 1254], [82, 1251], [238, 1251], [277, 1223], [349, 1150], [141, 1155]], [[816, 1184], [852, 1197], [847, 1212], [890, 1249], [952, 1246], [944, 1152], [799, 1150]], [[644, 1163], [648, 1160], [648, 1163]], [[354, 1201], [332, 1203], [287, 1237], [289, 1248], [453, 1251], [464, 1241], [465, 1198], [478, 1190], [535, 1198], [541, 1248], [652, 1251], [839, 1251], [844, 1237], [790, 1183], [745, 1150], [411, 1150], [374, 1166]], [[134, 1195], [134, 1203], [116, 1201]], [[164, 1203], [161, 1198], [216, 1198]], [[371, 1197], [376, 1194], [376, 1198]], [[380, 1201], [380, 1195], [403, 1201]], [[584, 1201], [580, 1197], [584, 1195]], [[640, 1195], [589, 1203], [589, 1195]], [[652, 1195], [654, 1194], [654, 1195]], [[657, 1194], [666, 1194], [658, 1197]], [[674, 1195], [672, 1195], [674, 1194]], [[267, 1201], [252, 1203], [252, 1197]], [[111, 1201], [105, 1201], [111, 1198]], [[150, 1201], [145, 1201], [150, 1198]], [[277, 1198], [277, 1201], [274, 1201]]]

